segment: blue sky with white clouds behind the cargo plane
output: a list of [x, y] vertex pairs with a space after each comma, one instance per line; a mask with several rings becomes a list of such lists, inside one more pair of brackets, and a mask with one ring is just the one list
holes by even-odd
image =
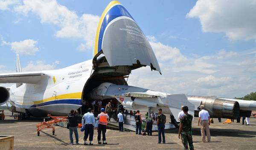
[[[109, 2], [0, 0], [0, 73], [15, 72], [16, 54], [22, 71], [92, 59], [96, 26]], [[129, 85], [225, 98], [256, 92], [255, 0], [119, 2], [148, 38], [162, 71], [133, 70]]]

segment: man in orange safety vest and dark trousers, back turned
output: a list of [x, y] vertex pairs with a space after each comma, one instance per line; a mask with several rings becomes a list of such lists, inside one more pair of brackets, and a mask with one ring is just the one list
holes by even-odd
[[105, 109], [102, 108], [101, 113], [97, 117], [97, 122], [96, 122], [96, 129], [98, 130], [98, 144], [101, 144], [101, 133], [102, 133], [102, 144], [108, 144], [106, 142], [106, 136], [105, 133], [107, 131], [107, 124], [108, 124], [108, 114], [104, 113]]

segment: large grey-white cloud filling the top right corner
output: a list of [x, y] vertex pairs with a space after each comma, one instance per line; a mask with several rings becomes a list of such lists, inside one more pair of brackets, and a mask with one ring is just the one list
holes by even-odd
[[231, 40], [256, 40], [255, 8], [255, 0], [198, 0], [187, 17], [198, 17], [204, 32], [225, 32]]

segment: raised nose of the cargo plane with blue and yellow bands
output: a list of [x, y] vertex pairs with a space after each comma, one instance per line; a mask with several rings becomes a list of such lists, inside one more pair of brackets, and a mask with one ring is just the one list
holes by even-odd
[[108, 4], [96, 30], [93, 65], [104, 54], [109, 66], [137, 69], [150, 66], [161, 73], [147, 38], [131, 14], [118, 1]]

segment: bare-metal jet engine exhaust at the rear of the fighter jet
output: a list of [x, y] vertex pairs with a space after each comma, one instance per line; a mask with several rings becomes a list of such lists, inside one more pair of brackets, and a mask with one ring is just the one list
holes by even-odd
[[216, 96], [188, 96], [188, 99], [189, 101], [201, 101], [201, 105], [204, 105], [211, 118], [236, 119], [239, 117], [239, 103], [237, 101], [225, 100]]

